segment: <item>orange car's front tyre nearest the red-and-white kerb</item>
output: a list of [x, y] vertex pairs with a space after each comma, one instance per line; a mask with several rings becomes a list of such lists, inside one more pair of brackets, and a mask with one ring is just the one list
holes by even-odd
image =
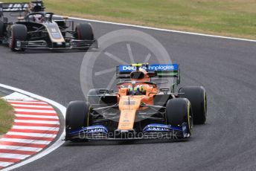
[[65, 113], [66, 138], [70, 141], [81, 141], [81, 138], [71, 138], [68, 133], [74, 132], [90, 124], [90, 105], [84, 101], [71, 101]]

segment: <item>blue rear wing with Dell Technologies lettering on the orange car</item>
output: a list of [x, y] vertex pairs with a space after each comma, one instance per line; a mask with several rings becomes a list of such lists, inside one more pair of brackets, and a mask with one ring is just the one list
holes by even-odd
[[[179, 64], [132, 64], [119, 65], [116, 68], [117, 80], [129, 79], [129, 74], [138, 68], [146, 70], [150, 77], [173, 77], [176, 78], [176, 84], [180, 83]], [[118, 81], [119, 82], [119, 81]]]

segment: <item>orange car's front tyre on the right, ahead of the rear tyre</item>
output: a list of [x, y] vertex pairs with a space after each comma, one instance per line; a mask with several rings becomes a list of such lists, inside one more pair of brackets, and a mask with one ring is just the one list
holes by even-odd
[[174, 98], [167, 101], [166, 123], [171, 126], [181, 126], [182, 123], [188, 124], [188, 131], [191, 133], [193, 126], [193, 115], [191, 103], [186, 98]]

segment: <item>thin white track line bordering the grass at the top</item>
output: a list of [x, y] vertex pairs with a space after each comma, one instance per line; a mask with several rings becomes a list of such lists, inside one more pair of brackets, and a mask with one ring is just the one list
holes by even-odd
[[242, 38], [228, 37], [228, 36], [216, 36], [216, 35], [204, 34], [204, 33], [193, 33], [193, 32], [188, 32], [188, 31], [152, 28], [152, 27], [141, 26], [141, 25], [129, 25], [129, 24], [118, 23], [118, 22], [104, 22], [104, 21], [95, 20], [95, 19], [80, 19], [77, 17], [69, 17], [69, 19], [81, 20], [81, 21], [86, 21], [86, 22], [99, 22], [99, 23], [110, 24], [110, 25], [122, 25], [122, 26], [127, 26], [127, 27], [132, 27], [132, 28], [144, 28], [147, 30], [159, 30], [159, 31], [164, 31], [164, 32], [184, 33], [184, 34], [191, 34], [191, 35], [196, 35], [196, 36], [208, 36], [208, 37], [216, 37], [216, 38], [221, 38], [221, 39], [233, 39], [233, 40], [241, 40], [241, 41], [247, 41], [247, 42], [256, 42], [256, 40], [254, 40], [254, 39], [242, 39]]

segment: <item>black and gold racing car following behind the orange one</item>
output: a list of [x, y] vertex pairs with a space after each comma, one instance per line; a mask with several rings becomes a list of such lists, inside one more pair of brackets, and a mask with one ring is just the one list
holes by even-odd
[[[42, 1], [0, 4], [0, 42], [11, 51], [97, 48], [92, 25], [80, 23], [74, 28], [68, 17], [54, 16], [44, 9]], [[4, 13], [18, 13], [18, 21], [8, 22]]]

